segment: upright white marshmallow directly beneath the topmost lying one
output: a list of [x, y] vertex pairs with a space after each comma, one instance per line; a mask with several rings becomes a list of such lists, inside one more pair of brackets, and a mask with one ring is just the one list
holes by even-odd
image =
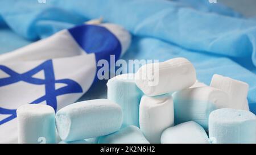
[[171, 95], [143, 95], [139, 105], [139, 127], [150, 143], [160, 143], [164, 129], [174, 125], [174, 102]]

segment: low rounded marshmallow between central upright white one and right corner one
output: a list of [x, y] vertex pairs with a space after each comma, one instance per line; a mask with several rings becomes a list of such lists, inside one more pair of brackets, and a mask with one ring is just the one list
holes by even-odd
[[189, 121], [167, 128], [161, 136], [162, 144], [209, 144], [207, 133], [199, 124]]

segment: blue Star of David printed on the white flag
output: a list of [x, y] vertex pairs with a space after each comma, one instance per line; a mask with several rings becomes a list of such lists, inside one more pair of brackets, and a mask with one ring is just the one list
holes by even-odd
[[[72, 79], [55, 79], [52, 60], [47, 60], [36, 66], [36, 68], [29, 70], [28, 72], [19, 74], [7, 66], [0, 65], [0, 70], [9, 74], [10, 77], [0, 78], [0, 87], [11, 85], [13, 83], [24, 81], [34, 85], [44, 85], [45, 95], [35, 99], [30, 104], [38, 104], [46, 101], [47, 105], [52, 106], [54, 110], [57, 110], [57, 96], [69, 94], [69, 93], [82, 93], [82, 87], [76, 81]], [[44, 71], [44, 79], [32, 77], [40, 71]], [[66, 86], [55, 88], [55, 83], [64, 83]], [[0, 125], [16, 118], [16, 109], [7, 109], [0, 107], [0, 115], [10, 115], [9, 117], [0, 120]]]

